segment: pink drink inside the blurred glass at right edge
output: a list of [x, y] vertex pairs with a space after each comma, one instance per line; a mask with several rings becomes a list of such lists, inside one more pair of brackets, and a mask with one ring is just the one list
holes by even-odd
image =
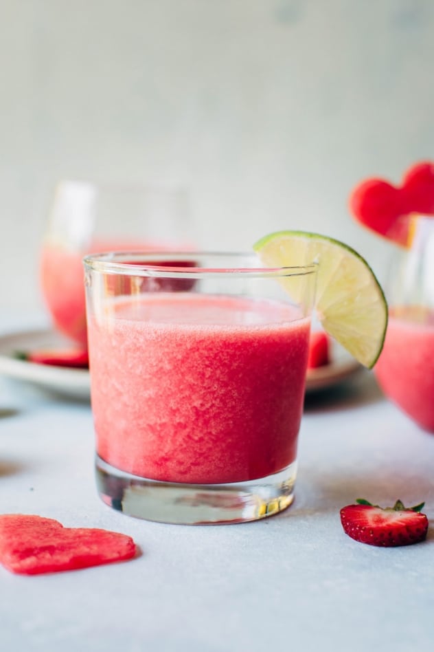
[[399, 317], [391, 310], [375, 373], [385, 394], [434, 433], [434, 311], [408, 309], [406, 318], [402, 309]]

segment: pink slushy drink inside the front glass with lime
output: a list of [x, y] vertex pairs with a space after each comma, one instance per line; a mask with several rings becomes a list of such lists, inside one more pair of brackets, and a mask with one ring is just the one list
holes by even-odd
[[188, 292], [105, 309], [89, 320], [102, 459], [183, 483], [257, 479], [295, 461], [308, 318], [283, 303]]

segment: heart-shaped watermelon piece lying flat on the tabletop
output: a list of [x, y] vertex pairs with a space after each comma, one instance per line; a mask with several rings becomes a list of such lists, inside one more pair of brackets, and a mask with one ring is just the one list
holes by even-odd
[[35, 514], [0, 515], [0, 563], [36, 575], [122, 561], [135, 556], [130, 536], [98, 528], [64, 528]]

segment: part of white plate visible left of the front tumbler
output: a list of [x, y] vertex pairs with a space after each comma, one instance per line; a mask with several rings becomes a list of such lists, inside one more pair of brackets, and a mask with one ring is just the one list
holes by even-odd
[[65, 346], [66, 340], [52, 330], [34, 330], [0, 336], [0, 373], [73, 398], [89, 399], [87, 369], [38, 365], [17, 359], [17, 351]]

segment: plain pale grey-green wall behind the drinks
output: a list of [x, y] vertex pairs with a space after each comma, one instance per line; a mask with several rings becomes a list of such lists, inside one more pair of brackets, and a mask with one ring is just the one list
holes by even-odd
[[62, 177], [181, 182], [207, 248], [387, 246], [350, 189], [434, 157], [431, 0], [0, 0], [0, 305], [41, 305]]

